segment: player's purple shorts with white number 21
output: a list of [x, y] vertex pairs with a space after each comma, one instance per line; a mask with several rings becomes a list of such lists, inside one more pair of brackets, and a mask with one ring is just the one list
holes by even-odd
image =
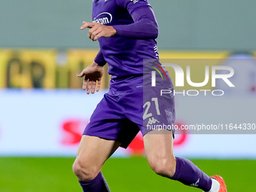
[[151, 87], [151, 74], [111, 81], [111, 88], [96, 106], [84, 135], [115, 140], [127, 148], [139, 130], [171, 130], [175, 121], [172, 93], [160, 96], [162, 89], [173, 90], [172, 81], [157, 78]]

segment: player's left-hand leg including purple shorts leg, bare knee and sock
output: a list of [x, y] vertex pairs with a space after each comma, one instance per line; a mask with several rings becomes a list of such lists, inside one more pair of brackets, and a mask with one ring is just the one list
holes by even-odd
[[108, 191], [100, 169], [120, 145], [117, 135], [122, 126], [120, 118], [124, 117], [118, 113], [123, 111], [118, 99], [119, 97], [106, 93], [93, 111], [90, 122], [84, 130], [73, 165], [73, 171], [84, 191]]

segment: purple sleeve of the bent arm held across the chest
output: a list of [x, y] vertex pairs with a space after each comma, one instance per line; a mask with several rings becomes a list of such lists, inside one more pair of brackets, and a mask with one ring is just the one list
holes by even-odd
[[129, 10], [134, 23], [113, 26], [116, 30], [115, 36], [139, 39], [157, 38], [158, 24], [155, 19], [154, 12], [151, 6], [148, 5], [148, 2], [142, 0], [139, 2], [136, 4], [133, 4], [133, 2], [127, 4], [126, 8]]

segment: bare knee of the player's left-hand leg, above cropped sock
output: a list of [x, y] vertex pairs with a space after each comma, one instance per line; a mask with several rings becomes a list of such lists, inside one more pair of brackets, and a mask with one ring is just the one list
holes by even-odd
[[73, 163], [72, 169], [80, 181], [89, 181], [96, 178], [100, 170], [96, 166], [78, 159]]

